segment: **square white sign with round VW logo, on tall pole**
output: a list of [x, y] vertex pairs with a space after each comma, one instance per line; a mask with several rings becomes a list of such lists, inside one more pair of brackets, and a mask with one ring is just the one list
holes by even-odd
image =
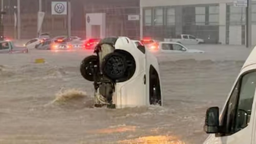
[[52, 15], [67, 15], [67, 2], [51, 2]]

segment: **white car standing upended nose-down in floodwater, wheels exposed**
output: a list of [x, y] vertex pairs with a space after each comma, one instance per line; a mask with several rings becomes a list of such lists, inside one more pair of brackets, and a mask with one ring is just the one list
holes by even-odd
[[125, 108], [162, 105], [156, 57], [127, 37], [105, 38], [80, 66], [82, 76], [94, 82], [94, 106]]

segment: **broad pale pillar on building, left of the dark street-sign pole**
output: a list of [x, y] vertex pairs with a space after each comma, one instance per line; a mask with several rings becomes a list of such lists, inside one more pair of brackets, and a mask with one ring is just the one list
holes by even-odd
[[219, 4], [219, 42], [226, 44], [226, 3]]

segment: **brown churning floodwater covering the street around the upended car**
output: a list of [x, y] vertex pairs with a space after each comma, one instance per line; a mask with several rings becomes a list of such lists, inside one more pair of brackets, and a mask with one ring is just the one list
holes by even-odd
[[205, 53], [157, 54], [163, 107], [125, 109], [92, 108], [79, 71], [92, 51], [1, 54], [0, 143], [202, 143], [207, 108], [223, 106], [250, 49], [190, 47]]

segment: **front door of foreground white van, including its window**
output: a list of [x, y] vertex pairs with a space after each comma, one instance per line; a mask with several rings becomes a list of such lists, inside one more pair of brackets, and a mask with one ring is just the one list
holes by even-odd
[[[238, 79], [220, 116], [219, 144], [251, 144], [255, 112], [256, 71]], [[254, 136], [253, 136], [254, 137]]]

